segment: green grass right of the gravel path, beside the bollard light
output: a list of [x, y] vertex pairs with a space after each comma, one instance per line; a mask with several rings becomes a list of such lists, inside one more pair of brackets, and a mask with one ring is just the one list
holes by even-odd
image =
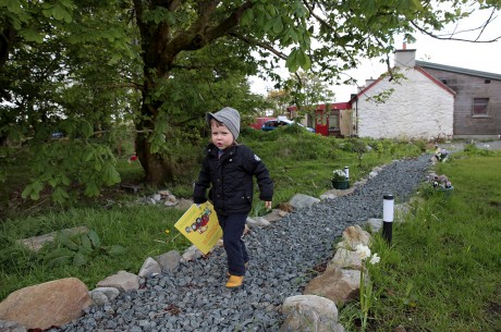
[[[424, 187], [424, 202], [394, 225], [391, 248], [376, 241], [380, 297], [369, 331], [501, 330], [501, 153], [479, 155], [438, 164], [453, 195]], [[356, 331], [353, 315], [353, 305], [341, 313]]]

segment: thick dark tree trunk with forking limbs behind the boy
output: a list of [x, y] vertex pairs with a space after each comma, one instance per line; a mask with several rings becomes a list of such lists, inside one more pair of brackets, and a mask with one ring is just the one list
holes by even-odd
[[228, 32], [239, 25], [242, 15], [254, 5], [254, 1], [245, 1], [215, 26], [212, 26], [210, 19], [216, 12], [219, 1], [196, 1], [203, 8], [199, 9], [199, 15], [194, 20], [190, 28], [183, 32], [173, 32], [172, 27], [166, 22], [144, 21], [143, 16], [146, 10], [154, 11], [160, 7], [174, 13], [182, 1], [134, 0], [133, 3], [142, 38], [140, 48], [145, 77], [140, 109], [143, 120], [136, 125], [136, 153], [145, 170], [146, 182], [158, 186], [164, 182], [172, 181], [180, 168], [172, 160], [168, 160], [168, 157], [151, 153], [151, 144], [148, 137], [155, 130], [155, 121], [163, 100], [159, 100], [160, 97], [156, 96], [157, 85], [162, 78], [169, 76], [169, 72], [172, 70], [175, 58], [180, 52], [199, 50], [227, 35]]

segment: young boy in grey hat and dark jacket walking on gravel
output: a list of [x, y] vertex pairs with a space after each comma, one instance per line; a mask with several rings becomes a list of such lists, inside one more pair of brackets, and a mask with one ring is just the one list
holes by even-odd
[[240, 114], [235, 109], [225, 107], [219, 112], [207, 113], [206, 121], [211, 143], [195, 183], [194, 202], [207, 201], [206, 192], [210, 186], [208, 199], [218, 214], [228, 256], [227, 287], [239, 287], [249, 260], [242, 235], [253, 204], [253, 176], [257, 179], [259, 198], [265, 200], [267, 209], [271, 208], [273, 183], [259, 157], [236, 143]]

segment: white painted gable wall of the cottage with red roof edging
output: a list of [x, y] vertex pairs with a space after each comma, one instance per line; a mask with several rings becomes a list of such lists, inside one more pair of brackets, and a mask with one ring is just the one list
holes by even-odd
[[[401, 69], [407, 79], [379, 81], [358, 97], [358, 136], [372, 138], [452, 137], [454, 96], [415, 69]], [[367, 100], [384, 90], [384, 103]]]

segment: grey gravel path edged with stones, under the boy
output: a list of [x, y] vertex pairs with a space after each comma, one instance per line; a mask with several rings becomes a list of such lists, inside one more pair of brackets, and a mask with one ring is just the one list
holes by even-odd
[[407, 200], [425, 180], [430, 156], [395, 161], [352, 195], [289, 214], [245, 237], [250, 255], [244, 286], [228, 290], [225, 254], [181, 263], [178, 272], [144, 281], [142, 290], [87, 309], [56, 331], [278, 331], [280, 306], [316, 276], [313, 268], [333, 255], [342, 231], [381, 218], [382, 196]]

